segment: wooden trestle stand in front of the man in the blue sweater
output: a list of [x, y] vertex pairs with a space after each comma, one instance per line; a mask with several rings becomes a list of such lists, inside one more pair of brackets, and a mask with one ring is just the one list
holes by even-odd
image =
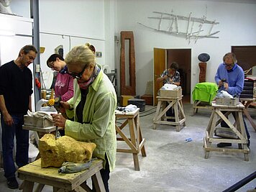
[[[250, 149], [247, 147], [247, 134], [244, 128], [244, 121], [242, 119], [242, 113], [244, 111], [244, 105], [239, 102], [236, 106], [226, 106], [226, 105], [217, 105], [215, 101], [211, 103], [213, 110], [211, 112], [210, 121], [208, 127], [206, 129], [206, 137], [204, 137], [204, 150], [205, 150], [205, 158], [209, 157], [210, 151], [217, 152], [242, 152], [244, 153], [244, 160], [248, 161], [248, 154], [250, 153]], [[222, 114], [221, 111], [227, 111], [226, 114]], [[234, 119], [236, 127], [227, 119], [229, 114], [235, 114]], [[217, 120], [217, 118], [219, 119]], [[219, 138], [214, 137], [214, 131], [216, 126], [220, 124], [222, 121], [226, 122], [230, 129], [237, 135], [237, 139], [229, 139], [229, 138]], [[238, 148], [223, 148], [223, 147], [213, 147], [211, 146], [212, 142], [227, 142], [227, 143], [237, 143]]]

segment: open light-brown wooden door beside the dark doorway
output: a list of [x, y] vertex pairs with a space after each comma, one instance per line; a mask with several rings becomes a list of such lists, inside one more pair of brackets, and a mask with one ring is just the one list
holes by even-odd
[[157, 91], [163, 86], [163, 83], [157, 83], [157, 78], [163, 73], [166, 68], [166, 50], [154, 48], [154, 91], [153, 91], [153, 106], [157, 105]]

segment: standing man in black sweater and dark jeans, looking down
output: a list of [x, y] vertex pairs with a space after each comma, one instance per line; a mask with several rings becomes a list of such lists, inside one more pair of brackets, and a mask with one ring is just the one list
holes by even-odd
[[24, 114], [31, 111], [32, 72], [27, 66], [37, 56], [33, 45], [25, 45], [18, 58], [0, 67], [1, 142], [3, 147], [4, 176], [9, 188], [19, 188], [14, 165], [13, 148], [16, 137], [16, 164], [28, 163], [29, 131], [22, 129]]

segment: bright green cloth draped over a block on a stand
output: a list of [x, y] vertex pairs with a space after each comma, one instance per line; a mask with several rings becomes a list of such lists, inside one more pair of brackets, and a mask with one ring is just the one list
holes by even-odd
[[216, 83], [204, 82], [197, 83], [193, 89], [193, 101], [204, 101], [211, 103], [214, 100], [216, 93], [218, 91], [218, 86]]

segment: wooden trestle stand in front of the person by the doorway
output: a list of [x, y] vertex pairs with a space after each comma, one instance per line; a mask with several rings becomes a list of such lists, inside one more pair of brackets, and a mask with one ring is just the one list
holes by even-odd
[[[179, 132], [181, 128], [186, 127], [186, 117], [183, 111], [182, 96], [176, 98], [157, 96], [157, 99], [158, 104], [157, 111], [155, 112], [155, 117], [153, 119], [153, 129], [156, 129], [156, 124], [173, 125], [176, 127], [177, 132]], [[166, 106], [167, 103], [168, 106]], [[168, 111], [171, 107], [174, 109], [175, 116], [165, 116], [166, 111]], [[165, 121], [163, 118], [164, 116], [166, 119], [175, 119], [175, 122]], [[180, 127], [180, 125], [183, 125], [183, 127]]]

